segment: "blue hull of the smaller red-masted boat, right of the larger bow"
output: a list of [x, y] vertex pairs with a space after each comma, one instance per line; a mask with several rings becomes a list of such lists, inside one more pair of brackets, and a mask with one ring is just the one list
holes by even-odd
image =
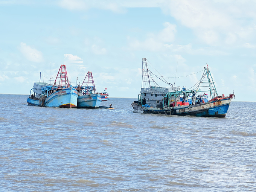
[[99, 108], [100, 105], [100, 94], [81, 95], [77, 98], [77, 108]]

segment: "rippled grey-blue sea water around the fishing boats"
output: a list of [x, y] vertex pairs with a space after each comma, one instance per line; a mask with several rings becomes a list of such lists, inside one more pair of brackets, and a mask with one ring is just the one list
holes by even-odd
[[28, 106], [0, 95], [0, 191], [256, 191], [256, 102], [226, 118]]

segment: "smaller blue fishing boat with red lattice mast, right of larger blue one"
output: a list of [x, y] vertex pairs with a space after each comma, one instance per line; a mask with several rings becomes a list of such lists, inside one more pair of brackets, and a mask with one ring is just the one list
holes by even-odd
[[[85, 84], [85, 85], [84, 85]], [[78, 91], [77, 108], [99, 108], [101, 105], [101, 94], [96, 92], [93, 75], [88, 72]]]

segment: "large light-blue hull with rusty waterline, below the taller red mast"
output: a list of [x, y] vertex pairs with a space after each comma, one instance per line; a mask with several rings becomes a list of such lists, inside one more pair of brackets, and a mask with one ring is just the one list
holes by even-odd
[[45, 107], [76, 108], [78, 94], [75, 88], [64, 88], [50, 94], [44, 102]]

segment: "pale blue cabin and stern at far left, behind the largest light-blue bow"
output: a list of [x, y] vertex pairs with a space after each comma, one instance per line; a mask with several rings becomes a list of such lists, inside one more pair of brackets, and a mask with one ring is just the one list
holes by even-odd
[[[39, 105], [39, 98], [42, 94], [41, 88], [47, 85], [50, 84], [45, 82], [34, 82], [34, 86], [30, 90], [29, 97], [27, 98], [27, 105]], [[33, 91], [34, 94], [31, 94], [31, 91]]]

